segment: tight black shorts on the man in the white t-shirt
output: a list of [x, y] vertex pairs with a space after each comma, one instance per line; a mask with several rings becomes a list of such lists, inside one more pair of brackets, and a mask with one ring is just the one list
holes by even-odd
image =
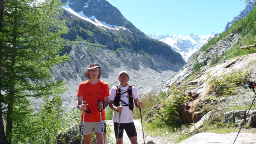
[[[120, 123], [118, 138], [122, 138], [124, 136], [124, 130], [126, 131], [128, 138], [137, 136], [136, 128], [133, 122], [125, 123], [125, 124]], [[114, 131], [115, 131], [115, 136], [117, 138], [118, 122], [114, 122]]]

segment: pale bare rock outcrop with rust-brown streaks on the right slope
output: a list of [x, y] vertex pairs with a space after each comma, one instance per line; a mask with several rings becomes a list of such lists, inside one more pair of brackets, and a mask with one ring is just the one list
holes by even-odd
[[[188, 100], [180, 106], [180, 117], [182, 122], [195, 123], [201, 119], [200, 113], [196, 112], [195, 108], [199, 100], [207, 96], [210, 90], [212, 89], [212, 86], [206, 83], [206, 80], [208, 78], [207, 76], [209, 76], [209, 74], [211, 76], [221, 77], [222, 74], [232, 73], [234, 72], [234, 70], [240, 70], [240, 71], [247, 70], [249, 77], [255, 78], [256, 76], [256, 72], [255, 72], [256, 65], [254, 64], [255, 61], [256, 61], [256, 54], [248, 54], [238, 58], [232, 58], [216, 66], [206, 68], [201, 72], [199, 72], [198, 74], [195, 74], [195, 76], [193, 76], [193, 78], [195, 78], [194, 80], [190, 81], [189, 80], [191, 78], [190, 77], [188, 78], [188, 80], [186, 80], [188, 81], [187, 83], [180, 84], [177, 90], [182, 86], [183, 87], [187, 86], [188, 89], [196, 87], [184, 93], [185, 96], [190, 96], [192, 100]], [[170, 98], [170, 97], [172, 97], [172, 93], [168, 94], [167, 98]], [[162, 107], [161, 103], [155, 106], [155, 108], [161, 108], [161, 107]], [[150, 121], [150, 115], [153, 115], [153, 114], [149, 112], [149, 116], [147, 116], [146, 120]], [[241, 118], [244, 119], [244, 117], [241, 117]], [[252, 120], [252, 122], [254, 122], [254, 120]]]

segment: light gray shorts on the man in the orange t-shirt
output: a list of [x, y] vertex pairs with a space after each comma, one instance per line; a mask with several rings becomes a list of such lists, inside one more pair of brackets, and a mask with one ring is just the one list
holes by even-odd
[[[80, 127], [80, 134], [81, 134], [81, 128], [83, 122], [80, 121], [81, 127]], [[88, 135], [92, 134], [93, 132], [98, 132], [101, 133], [101, 129], [103, 130], [104, 133], [106, 133], [106, 122], [105, 120], [102, 120], [102, 127], [100, 122], [84, 122], [84, 130], [83, 130], [83, 135]]]

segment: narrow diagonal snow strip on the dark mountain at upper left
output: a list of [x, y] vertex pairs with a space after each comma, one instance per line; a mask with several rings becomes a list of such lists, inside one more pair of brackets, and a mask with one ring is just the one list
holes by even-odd
[[61, 7], [64, 8], [65, 10], [67, 10], [68, 12], [70, 12], [71, 14], [74, 14], [78, 18], [81, 18], [83, 20], [91, 22], [92, 24], [94, 24], [96, 26], [109, 28], [109, 29], [113, 29], [113, 30], [126, 30], [126, 28], [124, 28], [123, 26], [116, 26], [116, 25], [113, 26], [110, 24], [106, 24], [106, 22], [101, 22], [101, 21], [97, 20], [94, 16], [91, 16], [89, 18], [83, 14], [83, 11], [75, 12], [74, 10], [72, 10], [72, 8], [69, 7], [69, 2], [65, 6], [61, 6]]

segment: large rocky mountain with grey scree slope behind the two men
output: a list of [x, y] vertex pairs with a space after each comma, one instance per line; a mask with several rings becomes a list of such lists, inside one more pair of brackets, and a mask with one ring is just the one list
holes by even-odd
[[[102, 66], [100, 80], [107, 82], [110, 88], [118, 84], [120, 71], [128, 71], [129, 82], [138, 89], [140, 96], [158, 92], [164, 82], [186, 63], [164, 42], [148, 38], [106, 0], [73, 0], [62, 9], [64, 13], [60, 18], [67, 21], [69, 28], [63, 38], [70, 62], [61, 68], [56, 67], [53, 78], [66, 82], [68, 90], [62, 98], [63, 106], [68, 110], [75, 108], [78, 85], [87, 80], [84, 72], [90, 63]], [[96, 9], [101, 16], [86, 16], [84, 13]], [[116, 23], [108, 22], [113, 17], [118, 18]], [[108, 27], [110, 25], [115, 27]]]

